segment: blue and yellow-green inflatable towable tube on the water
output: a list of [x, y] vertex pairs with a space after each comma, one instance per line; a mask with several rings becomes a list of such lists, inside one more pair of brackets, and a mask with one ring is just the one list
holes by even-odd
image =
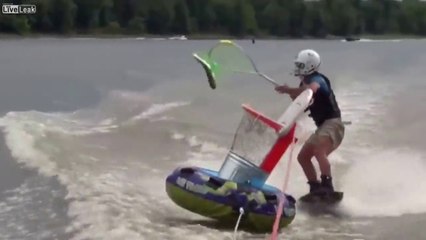
[[[167, 194], [182, 208], [230, 226], [237, 221], [242, 207], [246, 213], [241, 220], [242, 227], [259, 232], [270, 231], [282, 192], [269, 185], [255, 188], [218, 175], [218, 172], [204, 168], [178, 168], [167, 177]], [[290, 224], [296, 214], [294, 198], [284, 196], [280, 227]]]

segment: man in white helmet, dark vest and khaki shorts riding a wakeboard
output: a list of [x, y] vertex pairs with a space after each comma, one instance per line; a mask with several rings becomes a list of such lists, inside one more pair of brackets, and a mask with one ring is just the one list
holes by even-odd
[[[345, 127], [341, 120], [340, 109], [334, 96], [330, 81], [318, 72], [321, 59], [319, 54], [311, 49], [299, 52], [296, 57], [294, 75], [301, 80], [298, 88], [287, 85], [278, 86], [275, 90], [279, 93], [290, 95], [295, 99], [301, 92], [311, 88], [313, 103], [308, 107], [310, 117], [315, 122], [317, 129], [306, 141], [297, 157], [310, 186], [309, 194], [333, 193], [331, 167], [328, 155], [339, 147], [343, 140]], [[321, 182], [312, 164], [312, 157], [319, 163]]]

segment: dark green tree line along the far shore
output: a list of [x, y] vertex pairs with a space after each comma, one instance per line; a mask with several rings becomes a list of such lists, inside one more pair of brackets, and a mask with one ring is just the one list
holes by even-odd
[[12, 0], [34, 15], [0, 15], [15, 34], [218, 34], [324, 37], [426, 35], [421, 0]]

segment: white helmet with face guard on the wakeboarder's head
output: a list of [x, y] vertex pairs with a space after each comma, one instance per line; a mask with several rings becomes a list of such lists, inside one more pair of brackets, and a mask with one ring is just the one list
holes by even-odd
[[294, 60], [294, 75], [295, 76], [306, 76], [313, 72], [318, 71], [319, 65], [321, 64], [320, 56], [317, 52], [312, 49], [305, 49], [297, 54], [296, 60]]

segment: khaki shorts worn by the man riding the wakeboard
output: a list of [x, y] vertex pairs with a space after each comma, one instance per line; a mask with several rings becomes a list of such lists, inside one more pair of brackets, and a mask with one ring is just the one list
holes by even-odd
[[333, 150], [339, 147], [345, 136], [345, 126], [341, 118], [332, 118], [325, 120], [325, 122], [318, 127], [314, 134], [312, 134], [306, 143], [317, 145], [319, 137], [330, 137], [333, 142]]

